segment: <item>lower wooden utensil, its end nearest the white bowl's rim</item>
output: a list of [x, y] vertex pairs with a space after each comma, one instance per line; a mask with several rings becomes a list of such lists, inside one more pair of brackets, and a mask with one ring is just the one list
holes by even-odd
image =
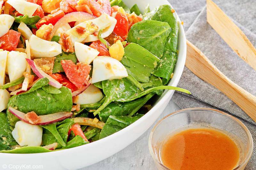
[[226, 94], [256, 122], [256, 97], [236, 85], [225, 76], [191, 42], [187, 40], [187, 59], [185, 64], [196, 76], [210, 83]]

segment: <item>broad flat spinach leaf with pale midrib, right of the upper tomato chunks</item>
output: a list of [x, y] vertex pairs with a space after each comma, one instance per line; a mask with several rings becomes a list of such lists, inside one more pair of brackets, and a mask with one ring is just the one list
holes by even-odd
[[166, 22], [144, 20], [131, 27], [127, 40], [139, 44], [161, 58], [164, 53], [166, 38], [170, 32], [171, 28]]

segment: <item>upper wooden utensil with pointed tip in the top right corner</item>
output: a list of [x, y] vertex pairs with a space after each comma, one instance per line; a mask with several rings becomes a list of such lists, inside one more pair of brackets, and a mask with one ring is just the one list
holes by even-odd
[[256, 49], [236, 24], [212, 0], [207, 0], [207, 22], [236, 54], [256, 70]]

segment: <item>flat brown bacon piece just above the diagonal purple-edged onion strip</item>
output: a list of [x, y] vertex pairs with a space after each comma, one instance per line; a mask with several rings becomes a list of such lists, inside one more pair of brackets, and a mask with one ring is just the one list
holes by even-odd
[[34, 62], [38, 67], [40, 67], [46, 74], [52, 74], [52, 69], [54, 65], [54, 60], [56, 57], [50, 58], [37, 58]]

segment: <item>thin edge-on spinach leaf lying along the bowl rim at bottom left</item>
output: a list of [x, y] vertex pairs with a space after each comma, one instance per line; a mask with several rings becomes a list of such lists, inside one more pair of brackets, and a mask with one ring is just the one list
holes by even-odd
[[[56, 151], [56, 150], [54, 150]], [[53, 152], [49, 149], [46, 149], [41, 146], [26, 146], [26, 147], [20, 147], [9, 151], [0, 151], [1, 153], [43, 153], [43, 152]]]

